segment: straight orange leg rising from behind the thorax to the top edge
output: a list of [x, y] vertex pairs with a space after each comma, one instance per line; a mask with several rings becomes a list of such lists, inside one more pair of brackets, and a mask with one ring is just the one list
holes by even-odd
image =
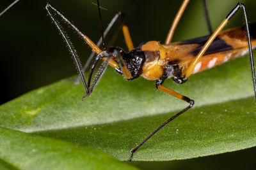
[[165, 39], [165, 43], [164, 43], [165, 45], [168, 45], [171, 43], [175, 29], [176, 29], [177, 25], [179, 24], [180, 18], [182, 16], [182, 14], [184, 13], [184, 10], [186, 9], [188, 3], [189, 3], [189, 0], [184, 0], [183, 3], [181, 4], [179, 11], [177, 12], [177, 14], [175, 16], [175, 18], [172, 22], [172, 26], [170, 27], [170, 30]]

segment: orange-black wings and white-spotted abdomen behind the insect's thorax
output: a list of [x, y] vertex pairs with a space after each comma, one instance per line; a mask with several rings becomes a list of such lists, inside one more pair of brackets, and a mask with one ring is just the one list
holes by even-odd
[[[255, 29], [256, 24], [251, 25], [251, 31]], [[228, 29], [227, 31], [221, 32], [209, 46], [200, 62], [196, 64], [193, 73], [210, 69], [211, 67], [218, 66], [230, 59], [235, 59], [236, 57], [248, 53], [248, 41], [245, 33], [243, 28]], [[252, 46], [255, 48], [256, 33], [251, 32], [251, 36]], [[170, 46], [172, 46], [172, 48], [173, 46], [176, 46], [178, 49], [175, 53], [183, 53], [183, 55], [179, 57], [170, 56], [170, 61], [179, 59], [179, 66], [182, 67], [182, 73], [184, 73], [209, 37], [210, 36], [204, 36], [201, 38], [172, 43]], [[184, 55], [184, 53], [186, 54]]]

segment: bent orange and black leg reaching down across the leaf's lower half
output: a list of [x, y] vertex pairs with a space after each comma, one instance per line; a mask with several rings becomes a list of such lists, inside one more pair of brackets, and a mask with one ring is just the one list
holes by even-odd
[[189, 97], [183, 96], [182, 94], [179, 94], [178, 92], [175, 92], [172, 89], [168, 89], [167, 87], [164, 87], [162, 85], [163, 81], [161, 81], [161, 83], [159, 83], [160, 81], [156, 82], [156, 87], [158, 90], [162, 91], [162, 92], [166, 92], [174, 97], [177, 97], [178, 99], [182, 99], [183, 101], [186, 101], [189, 103], [189, 106], [187, 106], [186, 108], [184, 108], [183, 110], [181, 110], [179, 113], [176, 113], [173, 117], [169, 118], [168, 120], [166, 120], [163, 124], [161, 124], [159, 127], [157, 127], [157, 129], [155, 129], [152, 133], [150, 133], [147, 138], [145, 138], [139, 145], [137, 145], [136, 147], [132, 148], [131, 150], [131, 158], [130, 161], [132, 160], [132, 156], [133, 153], [136, 152], [136, 150], [138, 150], [138, 148], [140, 148], [141, 145], [143, 145], [149, 138], [151, 138], [154, 134], [156, 134], [157, 131], [159, 131], [160, 129], [162, 129], [162, 127], [164, 127], [164, 125], [168, 124], [169, 122], [171, 122], [173, 119], [179, 117], [179, 115], [181, 115], [182, 113], [184, 113], [185, 111], [189, 110], [189, 108], [192, 108], [192, 106], [194, 105], [194, 101], [189, 99]]

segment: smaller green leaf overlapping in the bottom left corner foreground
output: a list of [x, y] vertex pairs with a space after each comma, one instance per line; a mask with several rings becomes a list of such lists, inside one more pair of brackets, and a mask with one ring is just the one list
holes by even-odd
[[135, 169], [99, 150], [33, 134], [0, 128], [0, 138], [8, 169]]

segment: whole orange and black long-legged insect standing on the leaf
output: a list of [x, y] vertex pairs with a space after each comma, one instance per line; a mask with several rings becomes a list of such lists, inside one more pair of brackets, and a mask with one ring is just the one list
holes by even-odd
[[[205, 4], [205, 1], [203, 2]], [[86, 91], [83, 99], [92, 94], [95, 85], [97, 85], [99, 82], [102, 74], [104, 74], [104, 71], [106, 71], [106, 68], [111, 66], [116, 70], [117, 73], [124, 76], [126, 80], [134, 80], [139, 76], [142, 76], [147, 80], [154, 80], [156, 81], [156, 89], [166, 92], [167, 94], [188, 103], [186, 108], [182, 109], [179, 111], [179, 113], [166, 120], [166, 122], [161, 124], [151, 134], [149, 134], [147, 138], [141, 141], [139, 145], [132, 148], [130, 160], [132, 160], [136, 150], [138, 150], [138, 148], [140, 148], [148, 139], [156, 134], [157, 131], [163, 128], [164, 125], [171, 122], [174, 118], [179, 117], [179, 115], [192, 108], [194, 105], [193, 99], [183, 96], [182, 94], [179, 94], [179, 92], [175, 92], [172, 89], [164, 87], [163, 83], [167, 78], [172, 78], [176, 83], [182, 84], [188, 81], [191, 74], [204, 71], [205, 69], [217, 66], [223, 62], [226, 62], [227, 60], [234, 59], [249, 52], [252, 67], [253, 87], [256, 96], [255, 71], [252, 54], [252, 49], [256, 47], [256, 35], [254, 33], [250, 34], [244, 4], [238, 3], [230, 11], [230, 13], [228, 13], [227, 17], [223, 20], [223, 22], [221, 22], [218, 28], [209, 36], [171, 43], [175, 28], [177, 27], [182, 13], [184, 13], [188, 3], [189, 0], [184, 0], [182, 2], [163, 45], [158, 41], [148, 41], [146, 43], [142, 43], [140, 46], [138, 46], [138, 48], [134, 48], [131, 36], [129, 34], [129, 29], [125, 22], [122, 22], [122, 31], [129, 52], [125, 52], [120, 47], [105, 47], [104, 45], [103, 50], [101, 50], [98, 47], [100, 43], [95, 45], [95, 43], [93, 43], [88, 36], [79, 31], [79, 29], [72, 24], [72, 22], [70, 22], [60, 11], [51, 6], [51, 4], [48, 3], [45, 7], [49, 17], [51, 17], [61, 36], [65, 40], [68, 50], [76, 63], [79, 76]], [[97, 4], [99, 16], [101, 16], [99, 0], [97, 1]], [[205, 14], [207, 14], [206, 6], [204, 6], [204, 9]], [[222, 31], [223, 27], [225, 27], [230, 18], [232, 18], [234, 14], [239, 11], [239, 9], [243, 10], [245, 28], [234, 28]], [[90, 67], [87, 83], [86, 79], [84, 78], [84, 69], [81, 67], [76, 50], [74, 50], [74, 47], [72, 46], [71, 41], [68, 39], [67, 34], [65, 34], [60, 24], [54, 17], [55, 15], [58, 15], [66, 24], [70, 25], [70, 27], [72, 27], [72, 29], [74, 29], [74, 31], [76, 31], [77, 34], [84, 39], [84, 41], [86, 41], [90, 48], [92, 48], [92, 51], [97, 53], [97, 56], [93, 60], [93, 64]], [[116, 14], [112, 22], [115, 22], [117, 17], [122, 18], [123, 13]], [[101, 29], [102, 42], [104, 42], [106, 32], [108, 32], [108, 29], [113, 25], [112, 22], [109, 24], [105, 32], [103, 32], [103, 29]], [[207, 23], [209, 31], [211, 32], [211, 25], [209, 24], [208, 17]], [[252, 28], [255, 29], [256, 25], [252, 25]], [[244, 32], [246, 32], [247, 37], [244, 36]], [[99, 60], [104, 61], [102, 62], [100, 69], [95, 74], [94, 80], [92, 80], [92, 74], [95, 71], [95, 66]]]

